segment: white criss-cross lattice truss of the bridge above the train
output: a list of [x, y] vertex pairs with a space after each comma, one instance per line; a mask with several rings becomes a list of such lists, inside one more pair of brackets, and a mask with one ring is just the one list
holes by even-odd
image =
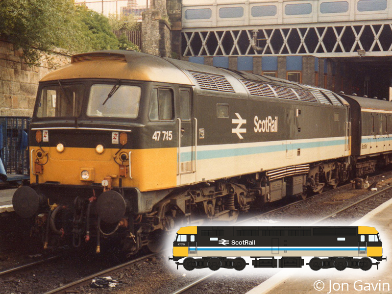
[[[294, 25], [293, 25], [294, 26]], [[259, 49], [252, 47], [257, 31]], [[308, 55], [320, 57], [392, 55], [392, 24], [329, 24], [303, 27], [192, 29], [182, 32], [183, 56]]]

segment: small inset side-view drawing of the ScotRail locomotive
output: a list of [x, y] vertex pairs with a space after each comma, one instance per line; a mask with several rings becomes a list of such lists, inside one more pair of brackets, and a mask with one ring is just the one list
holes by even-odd
[[170, 259], [185, 270], [243, 270], [247, 263], [241, 256], [252, 257], [255, 268], [301, 268], [302, 257], [316, 256], [307, 264], [312, 270], [370, 270], [387, 259], [382, 251], [378, 231], [368, 226], [188, 226], [177, 231]]

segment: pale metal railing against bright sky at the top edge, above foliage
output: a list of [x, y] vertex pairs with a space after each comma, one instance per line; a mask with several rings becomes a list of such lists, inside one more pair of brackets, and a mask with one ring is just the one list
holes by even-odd
[[149, 0], [98, 0], [83, 1], [75, 0], [75, 5], [85, 5], [87, 8], [101, 13], [105, 16], [115, 15], [120, 18], [121, 15], [134, 14], [142, 18], [142, 13], [150, 7]]

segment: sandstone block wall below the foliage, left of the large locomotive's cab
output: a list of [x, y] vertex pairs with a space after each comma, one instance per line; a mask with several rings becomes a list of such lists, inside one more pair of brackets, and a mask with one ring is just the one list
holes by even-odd
[[0, 40], [0, 116], [32, 116], [38, 81], [50, 71], [71, 62], [62, 54], [42, 58], [39, 66], [29, 66], [22, 50]]

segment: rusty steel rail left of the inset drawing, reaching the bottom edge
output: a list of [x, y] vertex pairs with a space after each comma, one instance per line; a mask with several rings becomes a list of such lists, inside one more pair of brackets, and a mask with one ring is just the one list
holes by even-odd
[[78, 279], [78, 280], [73, 281], [73, 282], [71, 282], [71, 283], [65, 284], [65, 285], [63, 285], [63, 286], [61, 286], [61, 287], [58, 287], [58, 288], [53, 289], [53, 290], [50, 290], [50, 291], [45, 292], [45, 293], [43, 293], [43, 294], [63, 294], [63, 293], [70, 293], [70, 291], [72, 291], [72, 290], [73, 290], [74, 288], [76, 288], [76, 287], [85, 286], [85, 285], [90, 284], [90, 280], [93, 279], [93, 278], [95, 278], [95, 277], [102, 276], [102, 275], [107, 275], [107, 274], [110, 274], [110, 273], [115, 272], [115, 271], [117, 271], [117, 270], [121, 270], [121, 269], [123, 269], [123, 268], [126, 268], [127, 266], [130, 266], [130, 265], [132, 265], [132, 264], [136, 264], [136, 263], [140, 263], [140, 262], [146, 261], [148, 258], [157, 256], [158, 254], [160, 254], [160, 253], [162, 253], [162, 252], [163, 252], [163, 251], [158, 252], [158, 253], [151, 253], [151, 254], [148, 254], [148, 255], [139, 257], [139, 258], [137, 258], [137, 259], [128, 261], [128, 262], [126, 262], [126, 263], [123, 263], [123, 264], [114, 266], [114, 267], [112, 267], [112, 268], [108, 268], [108, 269], [106, 269], [106, 270], [101, 270], [101, 271], [99, 271], [99, 272], [90, 274], [90, 275], [85, 276], [85, 277], [83, 277], [83, 278], [81, 278], [81, 279]]

